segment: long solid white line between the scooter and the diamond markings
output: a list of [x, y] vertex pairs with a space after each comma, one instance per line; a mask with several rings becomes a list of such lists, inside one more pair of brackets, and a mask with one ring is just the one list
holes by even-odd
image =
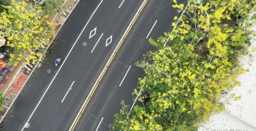
[[[99, 5], [97, 6], [97, 8], [95, 9], [95, 11], [93, 12], [93, 14], [91, 15], [91, 17], [89, 18], [89, 20], [87, 21], [86, 25], [84, 25], [83, 29], [82, 29], [82, 32], [84, 31], [84, 29], [86, 29], [88, 23], [90, 22], [90, 20], [92, 19], [93, 15], [95, 14], [95, 12], [97, 11], [97, 9], [99, 8], [100, 4], [102, 3], [103, 0], [101, 0], [101, 2], [99, 3]], [[65, 58], [65, 60], [62, 62], [62, 64], [60, 65], [57, 73], [54, 75], [51, 83], [49, 84], [49, 86], [47, 87], [45, 93], [42, 95], [42, 97], [40, 98], [39, 102], [36, 104], [36, 107], [35, 109], [33, 110], [32, 114], [29, 116], [29, 119], [27, 120], [26, 123], [29, 122], [29, 120], [31, 119], [31, 117], [33, 116], [33, 114], [35, 113], [35, 110], [37, 109], [37, 107], [39, 106], [40, 102], [42, 101], [42, 98], [44, 98], [44, 96], [46, 95], [47, 91], [49, 90], [50, 86], [52, 85], [53, 81], [55, 80], [55, 77], [57, 76], [59, 70], [61, 69], [61, 67], [63, 66], [63, 64], [65, 63], [65, 61], [67, 60], [67, 58], [69, 57], [71, 51], [73, 50], [74, 46], [76, 45], [76, 42], [78, 41], [78, 39], [80, 38], [80, 36], [82, 35], [82, 32], [79, 34], [78, 38], [76, 39], [74, 45], [71, 47], [67, 57]], [[24, 124], [23, 128], [22, 128], [22, 131], [24, 130], [25, 126], [26, 126], [26, 123]]]

